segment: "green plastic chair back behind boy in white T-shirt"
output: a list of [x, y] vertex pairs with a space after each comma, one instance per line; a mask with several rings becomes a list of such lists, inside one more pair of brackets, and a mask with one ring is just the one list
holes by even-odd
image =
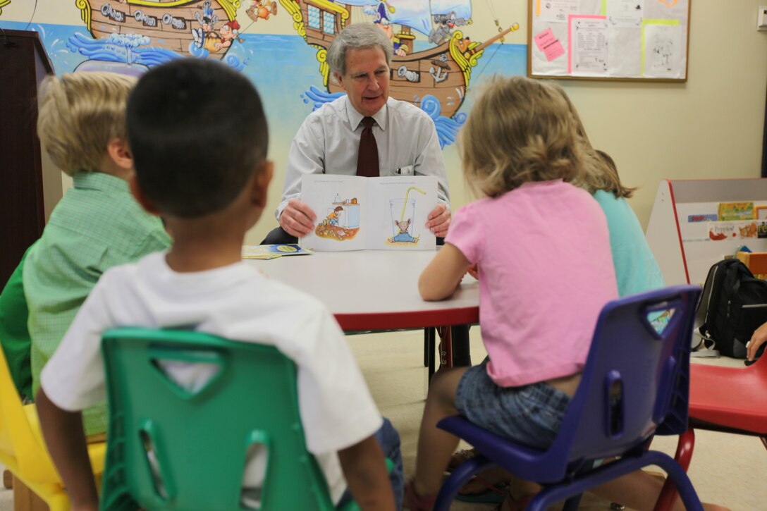
[[[100, 509], [249, 509], [240, 503], [242, 473], [255, 443], [268, 449], [258, 509], [334, 509], [306, 450], [295, 364], [275, 347], [120, 328], [104, 334], [101, 350], [109, 432]], [[186, 391], [160, 361], [211, 364], [216, 372]]]

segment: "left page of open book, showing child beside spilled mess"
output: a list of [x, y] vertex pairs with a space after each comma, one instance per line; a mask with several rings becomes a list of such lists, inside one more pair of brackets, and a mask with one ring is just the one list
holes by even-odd
[[317, 219], [301, 246], [316, 250], [365, 248], [364, 180], [357, 176], [304, 176], [301, 200], [314, 210]]

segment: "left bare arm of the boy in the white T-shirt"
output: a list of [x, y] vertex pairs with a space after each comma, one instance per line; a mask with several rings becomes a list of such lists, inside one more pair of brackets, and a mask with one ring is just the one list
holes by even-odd
[[88, 457], [82, 413], [62, 410], [48, 399], [44, 389], [38, 391], [35, 403], [45, 444], [67, 488], [72, 511], [96, 511], [98, 493]]

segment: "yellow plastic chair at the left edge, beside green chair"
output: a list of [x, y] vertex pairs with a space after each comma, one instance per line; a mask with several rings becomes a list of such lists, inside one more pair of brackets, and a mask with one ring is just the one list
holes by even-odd
[[[104, 472], [107, 443], [88, 444], [97, 486]], [[21, 405], [0, 350], [0, 462], [35, 492], [51, 511], [68, 511], [69, 496], [45, 447], [38, 410], [34, 404]]]

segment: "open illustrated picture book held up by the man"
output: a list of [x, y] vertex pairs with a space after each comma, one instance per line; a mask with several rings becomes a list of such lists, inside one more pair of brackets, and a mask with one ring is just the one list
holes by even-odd
[[338, 176], [311, 174], [301, 181], [301, 200], [317, 219], [301, 239], [311, 250], [435, 250], [426, 219], [436, 207], [434, 176]]

